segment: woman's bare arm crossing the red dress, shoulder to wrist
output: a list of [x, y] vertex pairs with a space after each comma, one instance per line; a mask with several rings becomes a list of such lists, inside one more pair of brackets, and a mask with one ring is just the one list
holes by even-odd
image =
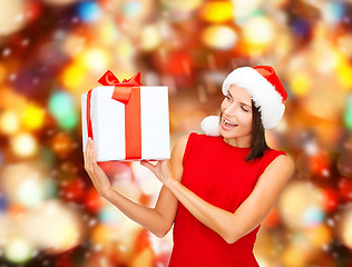
[[193, 216], [216, 231], [226, 243], [232, 244], [262, 222], [277, 200], [282, 188], [291, 177], [292, 170], [293, 164], [290, 158], [283, 155], [278, 156], [265, 169], [252, 194], [234, 214], [217, 208], [196, 196], [174, 179], [170, 170], [165, 171], [159, 179]]

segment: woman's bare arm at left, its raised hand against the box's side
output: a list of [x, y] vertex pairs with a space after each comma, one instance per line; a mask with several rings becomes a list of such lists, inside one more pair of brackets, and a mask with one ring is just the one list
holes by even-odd
[[[183, 137], [175, 144], [170, 157], [170, 166], [175, 179], [178, 181], [180, 181], [183, 174], [182, 159], [187, 139], [187, 136]], [[163, 186], [155, 208], [145, 207], [126, 198], [111, 187], [106, 174], [97, 164], [94, 141], [88, 140], [84, 157], [85, 169], [101, 197], [156, 236], [163, 237], [168, 233], [176, 216], [178, 200], [167, 187]], [[141, 165], [144, 164], [141, 162]]]

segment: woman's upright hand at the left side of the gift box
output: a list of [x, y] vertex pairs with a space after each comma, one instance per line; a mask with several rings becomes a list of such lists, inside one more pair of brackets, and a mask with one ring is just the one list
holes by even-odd
[[100, 166], [97, 164], [97, 150], [94, 146], [94, 140], [88, 138], [85, 157], [85, 169], [89, 175], [92, 185], [101, 197], [105, 197], [108, 190], [111, 189], [110, 181]]

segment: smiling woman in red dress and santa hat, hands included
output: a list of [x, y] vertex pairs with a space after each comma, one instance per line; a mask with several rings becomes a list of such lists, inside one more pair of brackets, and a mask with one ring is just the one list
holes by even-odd
[[154, 208], [114, 190], [87, 142], [85, 168], [104, 198], [158, 237], [175, 222], [169, 266], [258, 266], [256, 233], [293, 170], [285, 152], [265, 142], [287, 97], [275, 71], [238, 68], [223, 93], [221, 116], [202, 122], [206, 135], [179, 138], [170, 159], [156, 166], [140, 161], [164, 184]]

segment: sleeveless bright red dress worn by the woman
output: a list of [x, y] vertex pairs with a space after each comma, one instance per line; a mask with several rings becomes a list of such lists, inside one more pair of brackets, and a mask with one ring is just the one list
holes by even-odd
[[[251, 195], [257, 178], [284, 151], [266, 150], [246, 162], [251, 148], [233, 147], [222, 137], [192, 132], [183, 158], [182, 184], [205, 201], [234, 212]], [[174, 225], [169, 267], [254, 267], [253, 247], [260, 226], [234, 244], [197, 220], [180, 202]]]

